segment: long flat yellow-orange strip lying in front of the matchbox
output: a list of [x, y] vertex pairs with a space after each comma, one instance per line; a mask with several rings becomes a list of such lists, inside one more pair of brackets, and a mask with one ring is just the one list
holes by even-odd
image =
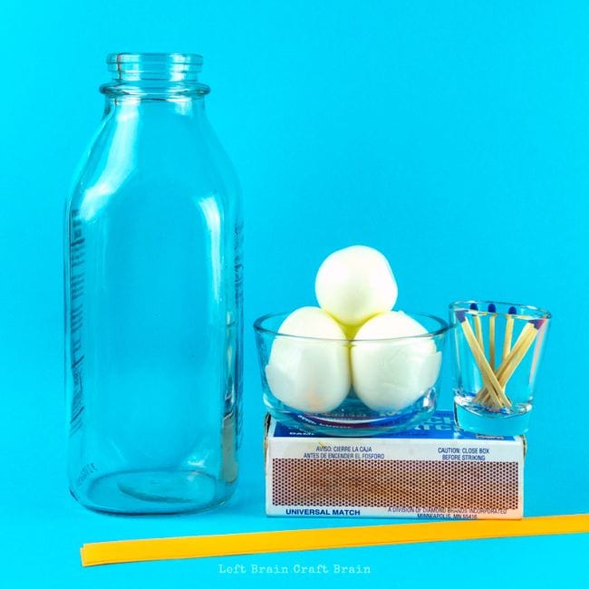
[[187, 536], [84, 544], [82, 565], [111, 565], [149, 560], [257, 555], [273, 552], [386, 546], [446, 540], [546, 536], [589, 532], [589, 514], [475, 520], [387, 526], [328, 527], [222, 536]]

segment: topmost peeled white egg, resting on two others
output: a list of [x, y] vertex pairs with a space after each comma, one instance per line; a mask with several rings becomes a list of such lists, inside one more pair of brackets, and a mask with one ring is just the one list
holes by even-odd
[[343, 323], [348, 334], [375, 314], [390, 311], [397, 302], [397, 283], [381, 252], [351, 246], [333, 252], [315, 279], [319, 306]]

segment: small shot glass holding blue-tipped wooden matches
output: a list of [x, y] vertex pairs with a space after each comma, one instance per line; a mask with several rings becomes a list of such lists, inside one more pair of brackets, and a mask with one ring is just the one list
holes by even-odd
[[526, 433], [551, 314], [493, 301], [449, 305], [454, 419], [489, 436]]

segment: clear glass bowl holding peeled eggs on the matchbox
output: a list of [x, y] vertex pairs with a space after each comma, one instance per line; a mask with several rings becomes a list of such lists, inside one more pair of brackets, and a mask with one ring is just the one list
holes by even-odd
[[254, 329], [269, 413], [298, 429], [350, 437], [408, 430], [427, 420], [449, 326], [430, 314], [407, 314], [427, 333], [322, 339], [279, 333], [286, 313], [260, 317]]

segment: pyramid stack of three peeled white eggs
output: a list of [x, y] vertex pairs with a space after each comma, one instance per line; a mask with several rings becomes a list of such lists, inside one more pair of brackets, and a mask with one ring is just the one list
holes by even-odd
[[[357, 396], [370, 410], [403, 410], [438, 380], [441, 353], [402, 311], [386, 257], [367, 246], [328, 256], [315, 280], [319, 307], [302, 307], [278, 329], [266, 366], [275, 397], [306, 413]], [[284, 335], [284, 336], [282, 336]]]

